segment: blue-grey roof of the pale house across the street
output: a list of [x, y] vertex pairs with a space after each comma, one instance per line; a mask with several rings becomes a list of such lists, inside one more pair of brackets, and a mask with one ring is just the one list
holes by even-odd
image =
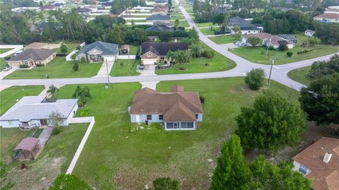
[[110, 55], [110, 54], [117, 54], [118, 53], [118, 44], [112, 44], [112, 43], [107, 43], [107, 42], [93, 42], [92, 44], [87, 44], [81, 52], [81, 53], [87, 53], [90, 52], [92, 49], [97, 49], [102, 52], [102, 55]]

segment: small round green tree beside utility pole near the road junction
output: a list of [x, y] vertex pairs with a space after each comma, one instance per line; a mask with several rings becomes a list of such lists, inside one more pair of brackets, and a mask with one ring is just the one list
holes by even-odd
[[259, 90], [263, 86], [265, 72], [263, 69], [252, 69], [246, 73], [244, 80], [251, 90]]

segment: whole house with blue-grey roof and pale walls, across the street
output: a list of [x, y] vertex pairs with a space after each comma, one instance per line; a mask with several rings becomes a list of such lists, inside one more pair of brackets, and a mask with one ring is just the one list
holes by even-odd
[[119, 45], [107, 42], [93, 42], [87, 44], [79, 52], [77, 58], [85, 57], [88, 61], [102, 61], [103, 59], [115, 60], [119, 54]]

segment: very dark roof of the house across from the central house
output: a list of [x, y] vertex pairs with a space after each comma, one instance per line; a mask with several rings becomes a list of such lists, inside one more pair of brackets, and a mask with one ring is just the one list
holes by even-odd
[[166, 56], [167, 52], [178, 50], [186, 50], [189, 45], [184, 42], [143, 42], [141, 44], [141, 56], [147, 52], [153, 52], [157, 56]]

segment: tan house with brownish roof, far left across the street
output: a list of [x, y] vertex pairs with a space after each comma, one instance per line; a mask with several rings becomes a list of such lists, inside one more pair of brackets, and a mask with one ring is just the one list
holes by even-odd
[[37, 64], [47, 65], [57, 56], [57, 52], [49, 49], [26, 49], [20, 54], [7, 60], [10, 66], [36, 66]]

